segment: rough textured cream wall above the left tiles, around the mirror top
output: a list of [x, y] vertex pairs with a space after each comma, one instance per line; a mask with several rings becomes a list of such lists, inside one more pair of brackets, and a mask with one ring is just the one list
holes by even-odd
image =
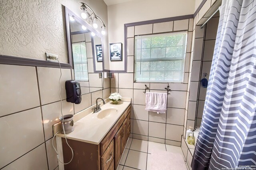
[[108, 25], [103, 0], [0, 0], [0, 54], [45, 60], [48, 52], [68, 63], [62, 5], [80, 15], [79, 2]]

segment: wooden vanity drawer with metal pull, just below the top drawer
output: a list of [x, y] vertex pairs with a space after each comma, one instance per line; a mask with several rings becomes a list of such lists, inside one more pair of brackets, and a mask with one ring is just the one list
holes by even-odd
[[112, 160], [114, 160], [114, 140], [111, 141], [109, 147], [106, 149], [106, 152], [101, 157], [102, 170], [108, 170]]

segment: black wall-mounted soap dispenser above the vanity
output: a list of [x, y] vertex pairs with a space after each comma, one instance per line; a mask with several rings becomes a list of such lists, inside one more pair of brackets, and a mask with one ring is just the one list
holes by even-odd
[[67, 80], [65, 83], [67, 102], [80, 104], [82, 101], [81, 87], [76, 80]]

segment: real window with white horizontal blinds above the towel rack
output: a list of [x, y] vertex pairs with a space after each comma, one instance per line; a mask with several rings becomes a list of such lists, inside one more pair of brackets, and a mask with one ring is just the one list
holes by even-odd
[[187, 33], [135, 37], [135, 82], [183, 82]]

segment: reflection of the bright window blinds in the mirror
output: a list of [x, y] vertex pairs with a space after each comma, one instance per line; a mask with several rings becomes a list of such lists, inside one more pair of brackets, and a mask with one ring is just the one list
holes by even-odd
[[88, 81], [88, 66], [85, 42], [72, 43], [75, 79]]

